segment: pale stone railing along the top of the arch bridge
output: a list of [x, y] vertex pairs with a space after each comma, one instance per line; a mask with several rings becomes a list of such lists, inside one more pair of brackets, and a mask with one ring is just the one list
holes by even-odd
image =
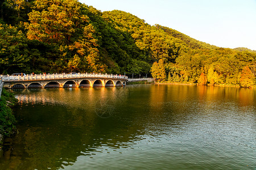
[[77, 73], [77, 74], [35, 74], [24, 76], [10, 76], [3, 75], [3, 82], [24, 81], [24, 80], [49, 80], [49, 79], [69, 79], [69, 78], [116, 78], [116, 79], [128, 79], [125, 75], [113, 75], [113, 74], [95, 74], [95, 73]]

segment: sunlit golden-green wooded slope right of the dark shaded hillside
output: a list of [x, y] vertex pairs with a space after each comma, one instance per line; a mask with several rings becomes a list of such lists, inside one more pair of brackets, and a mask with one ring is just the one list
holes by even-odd
[[113, 20], [117, 29], [129, 32], [138, 48], [151, 56], [154, 62], [151, 73], [155, 78], [167, 82], [235, 85], [241, 83], [241, 73], [248, 66], [251, 84], [255, 83], [253, 52], [219, 48], [171, 28], [150, 26], [123, 11], [104, 12], [104, 16]]

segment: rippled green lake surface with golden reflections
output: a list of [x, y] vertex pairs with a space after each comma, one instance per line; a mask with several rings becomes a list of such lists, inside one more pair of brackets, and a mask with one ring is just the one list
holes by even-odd
[[15, 91], [0, 169], [255, 169], [256, 90], [132, 85]]

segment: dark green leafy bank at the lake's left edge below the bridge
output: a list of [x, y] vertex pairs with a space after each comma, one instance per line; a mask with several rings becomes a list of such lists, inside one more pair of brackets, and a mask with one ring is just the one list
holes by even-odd
[[16, 120], [11, 107], [13, 107], [17, 101], [13, 94], [3, 89], [0, 101], [0, 134], [4, 137], [10, 137], [16, 131]]

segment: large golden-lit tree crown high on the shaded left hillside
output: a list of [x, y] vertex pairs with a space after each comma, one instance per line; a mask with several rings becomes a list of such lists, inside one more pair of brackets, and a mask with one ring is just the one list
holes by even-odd
[[[40, 1], [36, 3], [41, 7]], [[83, 28], [89, 22], [88, 16], [82, 14], [81, 3], [75, 0], [49, 0], [47, 4], [43, 11], [36, 6], [36, 10], [28, 14], [30, 20], [28, 39], [71, 44], [74, 42], [76, 33], [82, 34]]]

